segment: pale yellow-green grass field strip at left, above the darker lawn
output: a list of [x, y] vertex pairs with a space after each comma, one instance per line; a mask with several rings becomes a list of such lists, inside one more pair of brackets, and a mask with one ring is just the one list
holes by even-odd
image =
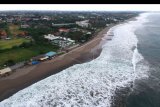
[[29, 42], [29, 39], [25, 38], [14, 38], [11, 40], [0, 40], [0, 50], [3, 49], [9, 49], [12, 48], [13, 46], [19, 46], [23, 42]]

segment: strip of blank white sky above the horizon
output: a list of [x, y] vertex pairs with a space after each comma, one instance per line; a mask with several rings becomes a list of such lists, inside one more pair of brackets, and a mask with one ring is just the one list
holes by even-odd
[[0, 4], [5, 10], [160, 11], [160, 4]]

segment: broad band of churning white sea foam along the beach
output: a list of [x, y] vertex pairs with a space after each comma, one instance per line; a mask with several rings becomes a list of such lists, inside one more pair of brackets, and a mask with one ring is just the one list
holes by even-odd
[[41, 80], [0, 102], [0, 107], [110, 107], [116, 88], [147, 77], [134, 34], [146, 16], [110, 29], [113, 39], [98, 58]]

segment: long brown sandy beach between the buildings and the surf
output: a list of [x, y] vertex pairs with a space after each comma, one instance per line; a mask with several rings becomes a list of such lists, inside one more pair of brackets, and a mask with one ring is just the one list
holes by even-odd
[[100, 31], [93, 39], [87, 43], [60, 55], [52, 60], [42, 62], [38, 65], [17, 69], [12, 75], [0, 79], [0, 101], [8, 98], [17, 91], [32, 85], [50, 75], [58, 73], [74, 64], [90, 61], [101, 53], [101, 40], [107, 33], [110, 25]]

